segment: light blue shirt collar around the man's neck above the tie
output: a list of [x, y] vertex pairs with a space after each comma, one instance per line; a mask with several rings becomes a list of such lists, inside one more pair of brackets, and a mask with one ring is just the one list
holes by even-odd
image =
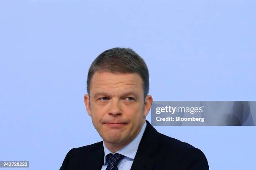
[[[141, 131], [138, 133], [138, 135], [125, 147], [122, 149], [116, 151], [116, 153], [122, 154], [128, 158], [131, 158], [132, 160], [135, 158], [136, 152], [138, 150], [138, 145], [141, 142], [142, 135], [146, 129], [146, 122], [144, 122], [144, 125], [141, 128]], [[106, 147], [104, 141], [103, 141], [103, 148], [104, 148], [104, 165], [106, 165], [107, 155], [112, 153], [108, 148]]]

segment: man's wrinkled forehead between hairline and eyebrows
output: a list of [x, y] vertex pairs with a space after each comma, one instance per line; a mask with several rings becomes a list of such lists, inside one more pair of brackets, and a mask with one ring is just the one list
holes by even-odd
[[95, 72], [90, 82], [90, 93], [137, 92], [143, 90], [143, 80], [137, 73]]

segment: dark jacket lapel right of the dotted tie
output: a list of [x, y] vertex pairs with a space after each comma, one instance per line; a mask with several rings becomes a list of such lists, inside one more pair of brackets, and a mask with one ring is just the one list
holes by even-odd
[[151, 156], [159, 148], [158, 132], [146, 120], [146, 130], [141, 138], [131, 170], [152, 170], [155, 160]]

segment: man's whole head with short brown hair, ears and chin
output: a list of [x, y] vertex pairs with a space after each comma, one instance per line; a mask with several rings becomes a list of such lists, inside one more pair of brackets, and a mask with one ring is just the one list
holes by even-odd
[[84, 102], [107, 147], [122, 148], [141, 130], [153, 101], [148, 77], [144, 60], [128, 48], [106, 50], [92, 62]]

